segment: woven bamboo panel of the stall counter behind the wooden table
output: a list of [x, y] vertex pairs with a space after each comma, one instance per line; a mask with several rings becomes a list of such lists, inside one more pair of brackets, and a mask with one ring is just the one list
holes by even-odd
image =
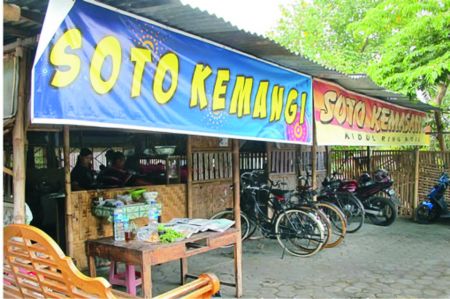
[[[141, 188], [141, 187], [139, 187]], [[175, 217], [186, 217], [186, 185], [157, 185], [142, 187], [148, 191], [159, 193], [158, 200], [162, 202], [162, 221], [166, 222]], [[105, 199], [114, 198], [118, 194], [124, 194], [136, 188], [118, 188], [102, 190]], [[98, 218], [91, 213], [92, 199], [97, 196], [97, 192], [78, 191], [72, 192], [71, 201], [73, 205], [73, 259], [80, 269], [87, 267], [85, 254], [85, 241], [112, 236], [112, 224], [104, 218]], [[145, 225], [147, 219], [136, 219], [134, 222], [138, 226]]]

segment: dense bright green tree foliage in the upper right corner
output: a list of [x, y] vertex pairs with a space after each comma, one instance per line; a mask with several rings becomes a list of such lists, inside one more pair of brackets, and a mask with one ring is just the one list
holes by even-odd
[[347, 30], [376, 53], [368, 74], [379, 85], [414, 95], [449, 81], [450, 1], [385, 0]]

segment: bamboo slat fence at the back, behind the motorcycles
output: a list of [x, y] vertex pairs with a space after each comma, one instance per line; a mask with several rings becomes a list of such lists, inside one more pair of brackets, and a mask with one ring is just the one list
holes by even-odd
[[[364, 172], [386, 169], [394, 180], [394, 189], [401, 201], [400, 214], [412, 216], [415, 202], [426, 197], [444, 170], [444, 165], [450, 166], [450, 152], [419, 152], [418, 157], [419, 172], [416, 174], [414, 150], [334, 150], [330, 153], [331, 172], [338, 172], [345, 179], [357, 179]], [[416, 175], [419, 198], [414, 195]]]

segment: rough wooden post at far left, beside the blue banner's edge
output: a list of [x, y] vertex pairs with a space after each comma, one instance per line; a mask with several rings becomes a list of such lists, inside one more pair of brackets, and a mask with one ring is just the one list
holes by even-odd
[[13, 196], [14, 223], [25, 223], [25, 129], [24, 114], [26, 109], [25, 90], [27, 86], [26, 51], [18, 47], [16, 57], [19, 60], [19, 88], [17, 113], [12, 133], [13, 138]]

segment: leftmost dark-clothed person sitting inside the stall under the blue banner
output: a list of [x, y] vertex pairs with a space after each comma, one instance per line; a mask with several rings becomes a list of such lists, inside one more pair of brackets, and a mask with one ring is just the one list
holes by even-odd
[[82, 148], [77, 158], [77, 164], [70, 173], [72, 190], [86, 190], [96, 187], [95, 171], [92, 169], [92, 151]]

